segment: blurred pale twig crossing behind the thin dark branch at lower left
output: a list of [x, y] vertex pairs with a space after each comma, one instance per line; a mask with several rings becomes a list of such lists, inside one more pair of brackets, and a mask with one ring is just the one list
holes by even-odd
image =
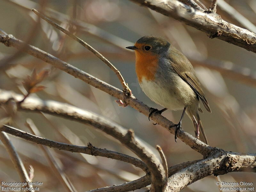
[[[36, 125], [34, 124], [34, 122], [31, 119], [26, 120], [26, 126], [32, 132], [32, 134], [36, 135], [35, 132], [39, 133]], [[66, 190], [69, 192], [77, 192], [77, 190], [73, 186], [73, 184], [70, 183], [69, 180], [67, 180], [66, 174], [60, 169], [59, 165], [57, 164], [54, 157], [52, 156], [50, 150], [48, 148], [44, 147], [43, 145], [39, 145], [39, 147], [43, 151], [44, 156], [46, 157], [48, 163], [50, 164], [52, 172], [55, 173], [55, 175], [60, 180], [60, 182], [62, 183], [64, 188], [66, 188]]]

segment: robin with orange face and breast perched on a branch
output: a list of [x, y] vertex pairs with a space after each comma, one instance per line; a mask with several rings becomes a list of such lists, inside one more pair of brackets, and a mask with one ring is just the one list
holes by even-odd
[[208, 112], [211, 113], [211, 109], [188, 58], [163, 37], [154, 35], [143, 36], [134, 46], [126, 48], [135, 51], [135, 69], [142, 91], [164, 107], [162, 110], [150, 108], [148, 119], [153, 113], [183, 109], [180, 122], [169, 127], [176, 126], [175, 141], [186, 112], [193, 122], [196, 138], [199, 139], [200, 128], [202, 139], [208, 144], [198, 113], [203, 112], [199, 99]]

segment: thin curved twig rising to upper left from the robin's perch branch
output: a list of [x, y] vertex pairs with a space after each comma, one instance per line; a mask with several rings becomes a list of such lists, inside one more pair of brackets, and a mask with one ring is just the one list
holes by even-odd
[[36, 11], [36, 9], [32, 9], [32, 11], [39, 16], [40, 18], [42, 18], [43, 20], [47, 21], [48, 23], [50, 23], [53, 27], [59, 29], [60, 31], [62, 31], [63, 33], [67, 34], [68, 36], [70, 36], [72, 39], [76, 40], [78, 43], [80, 43], [81, 45], [83, 45], [86, 49], [88, 49], [89, 51], [91, 51], [93, 54], [95, 54], [100, 60], [102, 60], [105, 64], [107, 64], [107, 66], [112, 69], [116, 76], [118, 77], [119, 81], [121, 82], [124, 90], [128, 91], [131, 93], [130, 88], [128, 87], [128, 85], [125, 83], [123, 76], [121, 75], [121, 73], [117, 70], [117, 68], [112, 65], [112, 63], [110, 63], [103, 55], [101, 55], [97, 50], [95, 50], [92, 46], [90, 46], [89, 44], [85, 43], [82, 39], [78, 38], [77, 36], [73, 35], [72, 33], [70, 33], [68, 30], [60, 27], [60, 25], [54, 23], [53, 21], [51, 21], [50, 19], [48, 19], [47, 17], [45, 17], [44, 15], [42, 15], [41, 13], [39, 13], [38, 11]]

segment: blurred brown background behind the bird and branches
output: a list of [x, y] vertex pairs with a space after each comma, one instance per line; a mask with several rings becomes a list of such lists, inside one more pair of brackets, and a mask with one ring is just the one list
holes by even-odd
[[[255, 53], [216, 38], [210, 39], [195, 28], [145, 7], [140, 7], [128, 0], [19, 0], [17, 3], [14, 2], [12, 0], [0, 1], [0, 28], [6, 33], [122, 89], [113, 71], [95, 55], [62, 32], [52, 28], [45, 21], [41, 20], [38, 23], [37, 16], [30, 10], [32, 8], [40, 9], [39, 4], [44, 5], [45, 15], [62, 27], [76, 33], [119, 69], [137, 99], [158, 109], [162, 107], [157, 106], [141, 91], [135, 74], [135, 55], [126, 50], [125, 46], [131, 46], [141, 36], [149, 34], [165, 37], [189, 58], [203, 85], [212, 108], [212, 114], [204, 110], [205, 113], [200, 115], [209, 144], [227, 151], [255, 152], [256, 80], [254, 84], [248, 84], [237, 77], [237, 73], [240, 73], [244, 75], [245, 79], [246, 77], [252, 79], [252, 82], [253, 79], [256, 79]], [[211, 3], [210, 1], [202, 2], [206, 7], [209, 7]], [[254, 0], [226, 2], [256, 25], [253, 23], [256, 17]], [[217, 13], [224, 20], [243, 27], [220, 7], [217, 7]], [[17, 53], [15, 48], [8, 48], [0, 44], [0, 59], [11, 57], [15, 53]], [[231, 72], [236, 70], [237, 73], [220, 73], [218, 70], [209, 70], [202, 66], [204, 63], [212, 64], [216, 69], [221, 64]], [[16, 54], [7, 66], [1, 68], [0, 88], [24, 93], [22, 81], [27, 75], [31, 75], [34, 68], [40, 71], [51, 68], [51, 66], [32, 56], [23, 53]], [[155, 152], [156, 145], [163, 148], [168, 166], [202, 158], [199, 153], [179, 139], [175, 143], [172, 134], [159, 125], [153, 125], [152, 121], [148, 121], [147, 116], [129, 106], [119, 107], [115, 103], [115, 98], [59, 69], [53, 69], [51, 75], [41, 85], [47, 88], [32, 96], [38, 96], [44, 100], [67, 102], [105, 116], [127, 129], [133, 129], [136, 136], [140, 137]], [[182, 111], [167, 110], [162, 115], [177, 123], [181, 113]], [[4, 109], [1, 109], [0, 114], [1, 116], [6, 115]], [[41, 134], [47, 139], [85, 146], [87, 142], [91, 142], [98, 148], [107, 148], [135, 156], [103, 132], [56, 116], [19, 111], [11, 125], [28, 131], [24, 125], [27, 118], [31, 118], [35, 122]], [[187, 116], [184, 118], [182, 127], [194, 135], [194, 128]], [[28, 169], [29, 165], [32, 165], [35, 169], [33, 181], [44, 183], [40, 187], [41, 191], [64, 190], [36, 144], [12, 136], [10, 138], [26, 168]], [[0, 150], [2, 154], [0, 156], [0, 180], [19, 181], [18, 174], [2, 144]], [[51, 151], [78, 191], [121, 184], [144, 175], [140, 169], [116, 160], [89, 155], [81, 156], [59, 150]], [[234, 172], [221, 175], [220, 178], [225, 182], [253, 182], [256, 181], [256, 174]], [[182, 191], [211, 192], [218, 190], [215, 177], [210, 176], [191, 184]], [[145, 191], [145, 189], [137, 191]]]

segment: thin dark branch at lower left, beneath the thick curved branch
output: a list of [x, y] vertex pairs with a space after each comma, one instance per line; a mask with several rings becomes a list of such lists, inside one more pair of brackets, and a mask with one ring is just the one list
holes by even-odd
[[119, 161], [124, 161], [127, 163], [131, 163], [136, 167], [141, 168], [142, 170], [146, 171], [147, 170], [147, 165], [145, 165], [144, 162], [140, 161], [139, 159], [136, 159], [134, 157], [124, 155], [122, 153], [118, 153], [115, 151], [110, 151], [107, 149], [101, 149], [101, 148], [96, 148], [96, 147], [84, 147], [84, 146], [77, 146], [77, 145], [71, 145], [71, 144], [66, 144], [66, 143], [60, 143], [57, 141], [52, 141], [48, 139], [44, 139], [41, 137], [37, 137], [35, 135], [29, 134], [27, 132], [23, 132], [21, 130], [15, 129], [13, 127], [4, 125], [1, 128], [2, 131], [9, 133], [11, 135], [14, 135], [16, 137], [20, 137], [22, 139], [28, 140], [35, 142], [37, 144], [41, 144], [44, 146], [48, 146], [51, 148], [56, 148], [59, 150], [66, 150], [74, 153], [84, 153], [88, 155], [94, 155], [94, 156], [102, 156], [102, 157], [107, 157], [111, 159], [116, 159]]

